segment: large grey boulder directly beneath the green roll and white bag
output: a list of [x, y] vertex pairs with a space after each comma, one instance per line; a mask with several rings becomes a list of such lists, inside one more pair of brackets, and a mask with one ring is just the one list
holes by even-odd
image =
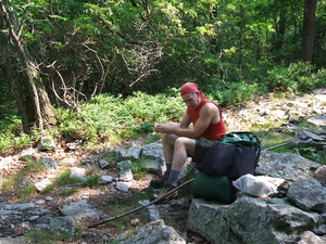
[[279, 198], [248, 195], [231, 205], [193, 200], [187, 228], [215, 244], [290, 243], [313, 229], [318, 214], [305, 213]]

